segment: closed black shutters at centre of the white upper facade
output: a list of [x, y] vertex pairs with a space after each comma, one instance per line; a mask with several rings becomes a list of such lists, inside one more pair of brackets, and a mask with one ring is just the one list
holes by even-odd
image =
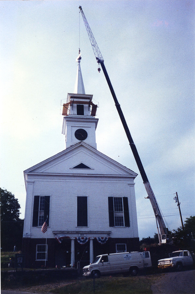
[[87, 227], [87, 197], [77, 197], [77, 227]]

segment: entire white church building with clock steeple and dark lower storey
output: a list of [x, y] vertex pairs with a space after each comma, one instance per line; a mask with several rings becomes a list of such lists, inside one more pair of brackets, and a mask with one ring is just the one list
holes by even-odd
[[[65, 150], [24, 171], [25, 267], [81, 266], [101, 253], [139, 250], [135, 172], [96, 148], [97, 105], [80, 68], [63, 104]], [[41, 231], [47, 219], [47, 231]]]

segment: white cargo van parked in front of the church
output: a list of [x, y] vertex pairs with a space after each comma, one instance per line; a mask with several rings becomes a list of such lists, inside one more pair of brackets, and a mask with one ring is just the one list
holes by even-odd
[[83, 267], [83, 276], [95, 275], [129, 274], [136, 276], [139, 269], [151, 267], [149, 251], [144, 252], [122, 252], [98, 255], [92, 264]]

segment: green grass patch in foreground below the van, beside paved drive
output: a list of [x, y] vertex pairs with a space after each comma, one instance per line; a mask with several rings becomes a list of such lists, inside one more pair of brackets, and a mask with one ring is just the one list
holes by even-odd
[[[96, 294], [148, 294], [154, 282], [154, 276], [137, 277], [101, 277], [95, 279]], [[51, 292], [59, 294], [91, 294], [93, 293], [93, 279], [78, 280], [64, 287], [52, 289]]]

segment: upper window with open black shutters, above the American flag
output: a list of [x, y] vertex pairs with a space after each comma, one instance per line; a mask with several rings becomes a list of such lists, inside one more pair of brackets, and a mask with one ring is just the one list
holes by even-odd
[[32, 219], [33, 227], [42, 226], [46, 218], [48, 219], [49, 225], [49, 202], [50, 196], [35, 195]]

